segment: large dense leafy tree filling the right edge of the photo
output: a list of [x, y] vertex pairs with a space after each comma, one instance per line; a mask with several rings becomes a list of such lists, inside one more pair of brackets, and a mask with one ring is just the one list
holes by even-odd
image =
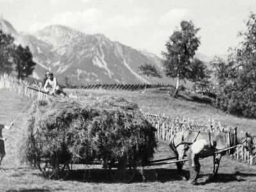
[[256, 15], [250, 14], [239, 46], [230, 49], [228, 60], [217, 61], [217, 106], [229, 113], [256, 117]]

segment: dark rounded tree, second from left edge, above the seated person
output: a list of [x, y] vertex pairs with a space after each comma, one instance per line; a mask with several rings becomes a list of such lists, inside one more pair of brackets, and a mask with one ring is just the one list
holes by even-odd
[[33, 56], [26, 46], [25, 49], [19, 45], [13, 54], [14, 62], [16, 64], [15, 70], [18, 72], [17, 78], [24, 79], [32, 74], [36, 63], [33, 61]]

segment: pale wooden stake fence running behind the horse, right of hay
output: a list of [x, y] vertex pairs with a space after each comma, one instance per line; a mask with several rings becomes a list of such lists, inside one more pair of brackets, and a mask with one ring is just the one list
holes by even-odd
[[[183, 118], [169, 118], [168, 116], [154, 115], [150, 113], [144, 113], [148, 121], [157, 129], [156, 137], [161, 140], [170, 141], [173, 134], [183, 130], [196, 130], [196, 131], [218, 131], [221, 128], [221, 123], [214, 120], [208, 120], [208, 122], [196, 122], [193, 119]], [[256, 145], [255, 145], [256, 147]], [[248, 164], [256, 164], [256, 155], [252, 156], [245, 150], [243, 145], [236, 148], [236, 152], [230, 155], [232, 159], [236, 159], [239, 162]]]

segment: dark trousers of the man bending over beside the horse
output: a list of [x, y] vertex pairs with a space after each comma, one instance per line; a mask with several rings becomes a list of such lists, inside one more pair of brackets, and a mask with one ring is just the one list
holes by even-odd
[[199, 175], [201, 166], [198, 161], [199, 157], [197, 155], [195, 156], [195, 167], [191, 166], [191, 164], [192, 164], [191, 154], [192, 154], [191, 147], [189, 147], [189, 150], [187, 152], [188, 164], [189, 164], [189, 182], [191, 184], [195, 184], [196, 180], [198, 179], [198, 175]]

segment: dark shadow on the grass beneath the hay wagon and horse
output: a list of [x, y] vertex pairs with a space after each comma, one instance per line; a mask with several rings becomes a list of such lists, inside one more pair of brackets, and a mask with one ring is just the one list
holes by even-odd
[[[112, 173], [112, 174], [111, 174]], [[189, 177], [189, 171], [183, 170], [186, 178]], [[33, 175], [38, 175], [43, 177], [41, 173], [33, 173]], [[71, 170], [67, 179], [69, 181], [77, 181], [77, 182], [96, 182], [96, 183], [116, 183], [116, 180], [113, 180], [113, 170], [104, 170], [100, 168], [90, 169], [89, 170]], [[240, 178], [241, 176], [241, 178]], [[244, 177], [255, 177], [256, 173], [239, 173], [236, 172], [234, 174], [226, 174], [219, 173], [216, 179], [207, 179], [204, 182], [200, 182], [200, 185], [205, 185], [211, 182], [232, 182], [232, 181], [244, 181]], [[144, 177], [144, 178], [143, 178]], [[211, 177], [211, 174], [200, 174], [200, 177]], [[170, 168], [153, 168], [148, 167], [143, 171], [143, 176], [141, 174], [141, 169], [138, 168], [135, 171], [133, 179], [130, 181], [134, 182], [169, 182], [175, 180], [182, 180], [182, 178], [178, 175], [176, 169]], [[120, 183], [122, 183], [120, 181]], [[125, 183], [125, 182], [124, 182]]]

